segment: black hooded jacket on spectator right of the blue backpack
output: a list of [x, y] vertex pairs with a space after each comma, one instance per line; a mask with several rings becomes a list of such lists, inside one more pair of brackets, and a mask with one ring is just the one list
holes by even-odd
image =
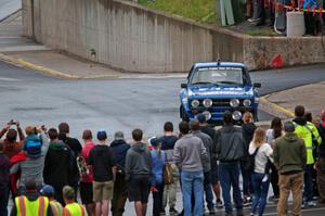
[[61, 140], [50, 142], [43, 171], [46, 183], [69, 183], [73, 160], [67, 144]]

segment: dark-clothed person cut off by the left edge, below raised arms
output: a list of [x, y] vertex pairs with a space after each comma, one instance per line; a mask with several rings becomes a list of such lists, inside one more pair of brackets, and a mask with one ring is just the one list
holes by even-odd
[[10, 161], [3, 149], [4, 143], [0, 140], [0, 216], [8, 216]]

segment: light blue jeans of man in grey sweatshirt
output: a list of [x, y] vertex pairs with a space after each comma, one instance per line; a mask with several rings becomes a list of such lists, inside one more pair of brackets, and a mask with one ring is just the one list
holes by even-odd
[[[184, 216], [204, 215], [204, 174], [203, 171], [181, 173]], [[191, 195], [195, 198], [194, 212], [192, 213]]]

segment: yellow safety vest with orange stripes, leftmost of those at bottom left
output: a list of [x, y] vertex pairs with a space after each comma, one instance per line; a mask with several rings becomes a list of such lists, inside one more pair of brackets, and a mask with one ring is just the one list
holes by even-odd
[[25, 195], [15, 198], [17, 216], [47, 216], [49, 199], [39, 196], [35, 201], [29, 201]]

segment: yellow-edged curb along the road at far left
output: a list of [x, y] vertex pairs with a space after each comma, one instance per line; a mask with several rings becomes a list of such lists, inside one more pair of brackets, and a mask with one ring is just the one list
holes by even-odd
[[4, 61], [6, 63], [13, 64], [15, 66], [23, 66], [25, 68], [35, 69], [35, 71], [41, 72], [42, 74], [51, 75], [56, 78], [62, 78], [62, 79], [80, 79], [81, 78], [80, 76], [77, 76], [77, 75], [70, 75], [70, 74], [51, 69], [51, 68], [48, 68], [44, 66], [36, 65], [26, 60], [23, 60], [20, 58], [14, 58], [14, 56], [9, 56], [9, 55], [2, 54], [2, 53], [0, 53], [0, 60]]

